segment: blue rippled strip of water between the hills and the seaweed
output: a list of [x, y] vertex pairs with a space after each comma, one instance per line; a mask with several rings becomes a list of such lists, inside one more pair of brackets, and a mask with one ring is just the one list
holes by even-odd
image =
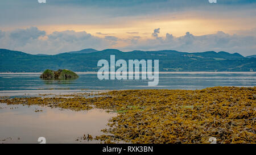
[[96, 73], [78, 73], [79, 79], [51, 81], [40, 73], [0, 73], [0, 95], [70, 93], [90, 90], [122, 89], [204, 89], [213, 86], [256, 86], [256, 72], [242, 73], [160, 73], [159, 84], [148, 87], [147, 80], [102, 80]]

